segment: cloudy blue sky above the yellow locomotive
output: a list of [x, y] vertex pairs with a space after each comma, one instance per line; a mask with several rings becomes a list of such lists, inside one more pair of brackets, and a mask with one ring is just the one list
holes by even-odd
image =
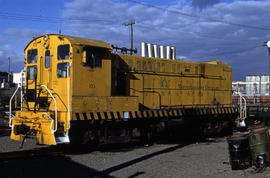
[[130, 47], [151, 42], [176, 47], [177, 58], [225, 61], [233, 80], [268, 73], [270, 0], [0, 0], [0, 71], [24, 65], [32, 37], [61, 33]]

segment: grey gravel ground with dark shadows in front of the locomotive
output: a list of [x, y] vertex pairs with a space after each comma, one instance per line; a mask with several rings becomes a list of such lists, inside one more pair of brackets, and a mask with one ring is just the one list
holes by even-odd
[[270, 177], [270, 168], [232, 171], [226, 138], [72, 151], [28, 140], [19, 147], [8, 136], [0, 137], [0, 177]]

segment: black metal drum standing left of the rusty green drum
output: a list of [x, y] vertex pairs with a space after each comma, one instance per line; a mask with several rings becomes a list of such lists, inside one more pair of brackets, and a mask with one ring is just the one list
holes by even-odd
[[251, 167], [251, 155], [248, 137], [231, 137], [227, 139], [232, 170]]

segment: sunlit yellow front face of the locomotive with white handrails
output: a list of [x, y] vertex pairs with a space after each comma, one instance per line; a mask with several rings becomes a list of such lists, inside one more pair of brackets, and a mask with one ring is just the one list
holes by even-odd
[[31, 136], [47, 145], [69, 142], [72, 59], [72, 44], [60, 35], [41, 36], [27, 45], [23, 108], [10, 118], [11, 139]]

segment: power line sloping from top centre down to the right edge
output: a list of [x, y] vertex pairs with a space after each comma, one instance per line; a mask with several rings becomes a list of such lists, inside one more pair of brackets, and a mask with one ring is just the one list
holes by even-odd
[[209, 18], [209, 17], [202, 17], [202, 16], [199, 16], [199, 15], [188, 14], [188, 13], [181, 12], [181, 11], [178, 11], [178, 10], [171, 10], [171, 9], [168, 9], [168, 8], [163, 8], [163, 7], [159, 7], [159, 6], [155, 6], [155, 5], [151, 5], [151, 4], [147, 4], [147, 3], [143, 3], [143, 2], [138, 2], [138, 1], [135, 1], [135, 0], [128, 0], [128, 1], [133, 2], [135, 4], [140, 4], [140, 5], [143, 5], [143, 6], [146, 6], [146, 7], [152, 7], [152, 8], [155, 8], [155, 9], [159, 9], [159, 10], [162, 10], [162, 11], [167, 11], [167, 12], [170, 12], [170, 13], [179, 14], [179, 15], [183, 15], [183, 16], [187, 16], [187, 17], [203, 19], [203, 20], [207, 20], [207, 21], [211, 21], [211, 22], [219, 22], [219, 23], [238, 26], [238, 27], [243, 27], [243, 28], [270, 31], [270, 28], [251, 26], [251, 25], [246, 25], [246, 24], [239, 24], [239, 23], [234, 23], [234, 22], [225, 21], [225, 20], [213, 19], [213, 18]]

